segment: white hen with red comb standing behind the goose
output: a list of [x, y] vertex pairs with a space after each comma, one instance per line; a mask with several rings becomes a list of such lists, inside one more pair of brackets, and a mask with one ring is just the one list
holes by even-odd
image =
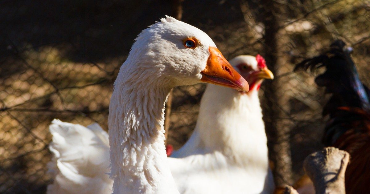
[[230, 63], [249, 83], [247, 93], [208, 85], [188, 142], [169, 160], [180, 193], [273, 193], [258, 90], [273, 79], [265, 59], [240, 55]]

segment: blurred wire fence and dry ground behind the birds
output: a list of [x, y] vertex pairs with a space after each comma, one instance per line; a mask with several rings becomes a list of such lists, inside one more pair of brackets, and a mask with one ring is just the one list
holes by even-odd
[[[227, 59], [265, 57], [275, 79], [259, 93], [277, 185], [292, 184], [307, 154], [322, 148], [329, 96], [295, 64], [340, 38], [370, 85], [368, 0], [1, 0], [0, 193], [46, 191], [54, 118], [108, 129], [118, 69], [139, 32], [165, 14], [205, 31]], [[194, 129], [204, 88], [173, 91], [175, 149]]]

